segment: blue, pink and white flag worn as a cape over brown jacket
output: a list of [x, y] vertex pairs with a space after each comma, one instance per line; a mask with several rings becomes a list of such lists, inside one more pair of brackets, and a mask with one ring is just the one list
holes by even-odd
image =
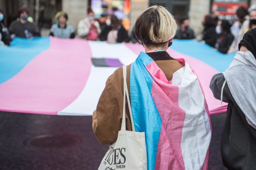
[[145, 132], [148, 170], [207, 170], [211, 121], [200, 82], [184, 59], [168, 81], [144, 52], [131, 65], [135, 131]]

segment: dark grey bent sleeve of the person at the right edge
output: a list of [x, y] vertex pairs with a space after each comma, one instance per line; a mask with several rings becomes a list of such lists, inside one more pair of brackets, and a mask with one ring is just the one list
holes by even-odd
[[[210, 89], [213, 92], [213, 95], [216, 99], [221, 100], [221, 89], [224, 84], [225, 77], [222, 73], [215, 74], [212, 77], [211, 83], [210, 83]], [[223, 98], [222, 101], [228, 103], [230, 101], [229, 95], [230, 90], [228, 88], [228, 84], [226, 83], [223, 89]]]

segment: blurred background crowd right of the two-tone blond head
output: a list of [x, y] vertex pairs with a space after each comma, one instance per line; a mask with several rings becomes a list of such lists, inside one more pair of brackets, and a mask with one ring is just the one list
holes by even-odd
[[[253, 7], [253, 6], [252, 6]], [[244, 34], [256, 27], [256, 9], [247, 9], [240, 6], [236, 11], [237, 21], [219, 20], [219, 12], [212, 11], [205, 15], [202, 21], [204, 30], [197, 38], [194, 31], [189, 27], [189, 19], [179, 20], [180, 29], [177, 30], [176, 39], [196, 39], [207, 43], [222, 53], [237, 51], [238, 44]]]

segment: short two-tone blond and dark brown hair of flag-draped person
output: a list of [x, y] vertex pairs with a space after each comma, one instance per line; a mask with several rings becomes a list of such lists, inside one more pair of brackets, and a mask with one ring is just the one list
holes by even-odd
[[136, 20], [135, 35], [146, 45], [162, 44], [172, 39], [177, 30], [170, 12], [158, 5], [146, 9]]

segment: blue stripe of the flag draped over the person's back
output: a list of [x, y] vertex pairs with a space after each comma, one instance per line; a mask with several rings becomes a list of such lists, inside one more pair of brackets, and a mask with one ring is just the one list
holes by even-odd
[[153, 78], [146, 69], [152, 59], [141, 52], [131, 65], [131, 107], [135, 131], [145, 132], [148, 170], [155, 169], [157, 146], [162, 126], [161, 117], [151, 96]]

